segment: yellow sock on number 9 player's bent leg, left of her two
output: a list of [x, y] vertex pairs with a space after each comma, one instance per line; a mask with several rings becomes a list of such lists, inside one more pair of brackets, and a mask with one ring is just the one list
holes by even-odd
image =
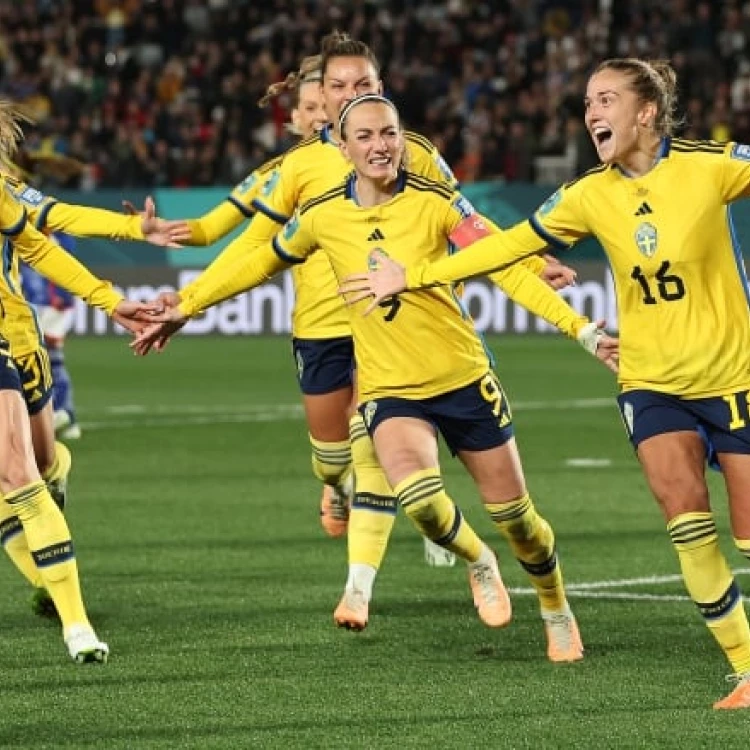
[[479, 559], [484, 543], [448, 497], [437, 469], [414, 472], [393, 492], [424, 536], [470, 563]]

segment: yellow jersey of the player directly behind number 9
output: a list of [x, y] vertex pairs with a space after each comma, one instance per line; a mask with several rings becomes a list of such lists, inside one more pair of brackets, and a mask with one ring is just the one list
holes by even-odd
[[[407, 132], [405, 137], [409, 171], [455, 187], [455, 178], [435, 146], [416, 133]], [[343, 182], [350, 171], [351, 164], [332, 140], [329, 126], [287, 151], [253, 206], [283, 224], [295, 209]], [[259, 245], [270, 241], [278, 231], [278, 226], [269, 227], [268, 222], [254, 224], [249, 233]], [[294, 336], [324, 339], [351, 335], [349, 317], [326, 255], [314, 255], [292, 273], [296, 293]]]

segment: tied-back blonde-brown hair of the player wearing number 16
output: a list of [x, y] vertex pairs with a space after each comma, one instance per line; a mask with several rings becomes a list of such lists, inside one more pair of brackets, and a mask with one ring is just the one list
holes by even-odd
[[640, 60], [637, 57], [620, 57], [600, 63], [594, 75], [603, 70], [625, 73], [641, 102], [656, 104], [654, 130], [659, 135], [672, 135], [680, 124], [676, 117], [677, 74], [667, 60]]

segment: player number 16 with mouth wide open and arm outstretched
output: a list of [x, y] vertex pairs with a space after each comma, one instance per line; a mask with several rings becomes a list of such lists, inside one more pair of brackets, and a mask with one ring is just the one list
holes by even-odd
[[343, 288], [353, 301], [372, 295], [373, 310], [405, 288], [453, 283], [546, 245], [599, 239], [618, 295], [618, 403], [628, 437], [688, 593], [737, 682], [714, 707], [750, 708], [750, 628], [719, 549], [702, 438], [724, 474], [735, 544], [750, 558], [750, 296], [728, 209], [750, 195], [750, 146], [672, 138], [675, 88], [667, 64], [603, 62], [585, 99], [601, 166], [502, 236], [405, 273], [386, 259]]

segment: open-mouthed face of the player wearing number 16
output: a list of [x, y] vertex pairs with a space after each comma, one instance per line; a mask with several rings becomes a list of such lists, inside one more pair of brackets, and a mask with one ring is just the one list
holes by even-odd
[[639, 101], [627, 73], [604, 69], [586, 88], [586, 128], [605, 164], [627, 161], [644, 133], [653, 134], [654, 102]]

